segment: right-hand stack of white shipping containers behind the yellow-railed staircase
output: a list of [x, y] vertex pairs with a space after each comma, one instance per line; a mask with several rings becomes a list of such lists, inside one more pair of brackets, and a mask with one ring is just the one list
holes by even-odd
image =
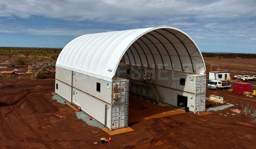
[[[189, 111], [205, 111], [206, 75], [131, 65], [119, 65], [116, 75], [139, 81], [150, 75], [165, 103], [178, 106], [179, 95], [187, 97]], [[131, 84], [130, 92], [154, 98], [150, 89], [139, 84]]]

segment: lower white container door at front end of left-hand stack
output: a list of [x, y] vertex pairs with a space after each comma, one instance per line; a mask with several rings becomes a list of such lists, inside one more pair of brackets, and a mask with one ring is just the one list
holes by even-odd
[[111, 108], [111, 129], [118, 129], [128, 126], [128, 104], [112, 106]]

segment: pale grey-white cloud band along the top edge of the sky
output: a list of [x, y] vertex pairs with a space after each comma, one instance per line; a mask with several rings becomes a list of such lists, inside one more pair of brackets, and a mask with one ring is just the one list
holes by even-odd
[[[18, 5], [17, 5], [18, 4]], [[170, 22], [183, 18], [237, 18], [255, 16], [253, 0], [6, 0], [0, 4], [0, 16], [29, 18], [41, 16], [67, 21], [140, 24]], [[239, 11], [238, 11], [239, 10]]]

